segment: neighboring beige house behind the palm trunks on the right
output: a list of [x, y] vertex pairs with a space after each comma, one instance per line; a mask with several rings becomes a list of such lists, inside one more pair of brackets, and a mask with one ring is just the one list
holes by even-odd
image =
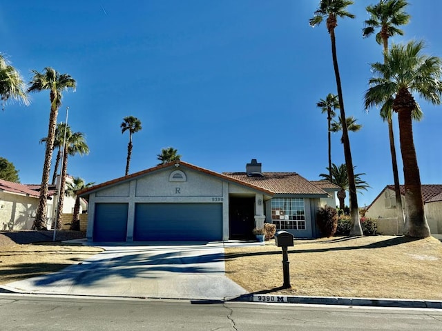
[[[422, 197], [432, 234], [442, 234], [442, 185], [421, 185]], [[405, 208], [405, 186], [401, 185], [402, 205]], [[365, 217], [376, 219], [378, 233], [397, 234], [397, 209], [394, 185], [387, 185], [367, 207]]]

